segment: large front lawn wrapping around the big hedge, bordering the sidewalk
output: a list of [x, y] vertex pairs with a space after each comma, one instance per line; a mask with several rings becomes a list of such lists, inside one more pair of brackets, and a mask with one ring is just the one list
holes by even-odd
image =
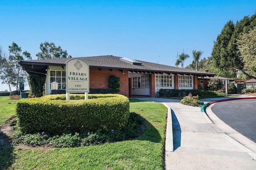
[[140, 114], [147, 123], [145, 133], [134, 140], [64, 149], [0, 147], [0, 170], [162, 170], [166, 107], [160, 103], [130, 99], [130, 112]]

